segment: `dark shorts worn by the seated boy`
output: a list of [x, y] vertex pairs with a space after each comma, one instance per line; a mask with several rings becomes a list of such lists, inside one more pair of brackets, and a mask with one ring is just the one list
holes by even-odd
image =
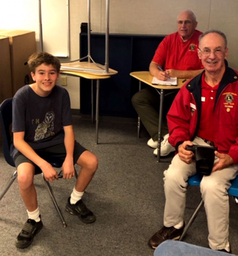
[[[77, 141], [75, 141], [74, 143], [74, 164], [77, 162], [78, 158], [81, 156], [81, 154], [86, 151], [87, 149], [85, 149], [83, 146], [81, 146]], [[51, 146], [51, 147], [46, 147], [44, 149], [37, 149], [35, 150], [35, 152], [44, 158], [44, 154], [47, 156], [54, 156], [54, 157], [59, 157], [62, 159], [65, 159], [66, 157], [66, 150], [65, 150], [65, 146], [64, 143], [55, 145], [55, 146]], [[35, 163], [33, 163], [30, 159], [28, 159], [27, 157], [25, 157], [22, 153], [18, 152], [15, 156], [15, 158], [13, 159], [15, 162], [15, 166], [17, 168], [17, 166], [19, 166], [21, 163], [31, 163], [32, 165], [35, 165]], [[36, 165], [35, 165], [36, 166]]]

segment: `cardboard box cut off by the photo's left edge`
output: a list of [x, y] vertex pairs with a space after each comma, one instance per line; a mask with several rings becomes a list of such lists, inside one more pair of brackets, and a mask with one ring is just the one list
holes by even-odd
[[[8, 37], [0, 36], [0, 104], [12, 97], [10, 45]], [[0, 145], [2, 143], [0, 127]]]

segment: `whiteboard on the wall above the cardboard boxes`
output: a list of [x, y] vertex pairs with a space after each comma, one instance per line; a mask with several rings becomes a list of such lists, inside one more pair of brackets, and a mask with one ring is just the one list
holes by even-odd
[[69, 0], [0, 0], [0, 29], [35, 31], [39, 50], [39, 2], [43, 50], [69, 57]]

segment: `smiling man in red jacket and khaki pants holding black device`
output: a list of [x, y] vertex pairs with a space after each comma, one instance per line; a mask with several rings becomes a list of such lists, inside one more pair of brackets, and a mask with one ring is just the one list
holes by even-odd
[[213, 250], [231, 252], [229, 245], [230, 180], [238, 174], [238, 72], [225, 64], [226, 36], [210, 30], [199, 38], [198, 56], [205, 72], [184, 85], [167, 115], [176, 154], [164, 171], [164, 226], [149, 240], [156, 248], [167, 239], [178, 240], [185, 227], [183, 217], [187, 179], [196, 174], [194, 153], [186, 146], [215, 146], [210, 175], [204, 175], [200, 191], [208, 220], [208, 241]]

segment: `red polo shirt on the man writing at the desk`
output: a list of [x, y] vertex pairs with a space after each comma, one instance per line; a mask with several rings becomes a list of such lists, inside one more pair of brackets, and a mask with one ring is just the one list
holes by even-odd
[[201, 34], [202, 32], [195, 30], [186, 42], [183, 42], [178, 32], [167, 35], [159, 44], [152, 61], [164, 70], [202, 69], [202, 62], [197, 56], [198, 39]]

